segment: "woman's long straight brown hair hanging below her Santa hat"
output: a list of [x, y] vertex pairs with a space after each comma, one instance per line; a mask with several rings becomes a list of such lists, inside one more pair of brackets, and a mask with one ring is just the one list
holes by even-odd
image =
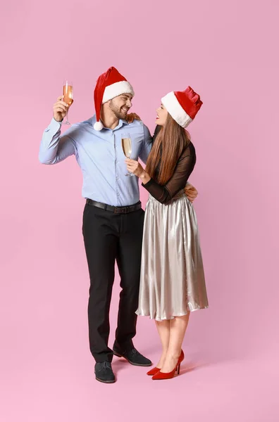
[[[173, 176], [178, 158], [190, 143], [190, 134], [183, 129], [168, 113], [165, 126], [156, 136], [151, 153], [147, 159], [146, 171], [157, 183], [165, 185]], [[160, 163], [159, 174], [156, 168]]]

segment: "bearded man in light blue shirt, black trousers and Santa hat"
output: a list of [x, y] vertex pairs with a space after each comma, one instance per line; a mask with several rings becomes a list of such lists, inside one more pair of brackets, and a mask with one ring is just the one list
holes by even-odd
[[[61, 135], [67, 104], [63, 96], [54, 104], [54, 118], [44, 131], [39, 160], [56, 164], [75, 155], [83, 174], [86, 198], [82, 232], [89, 267], [89, 345], [96, 361], [95, 375], [103, 383], [115, 382], [113, 354], [130, 364], [149, 366], [151, 361], [134, 347], [140, 286], [140, 260], [144, 211], [137, 177], [126, 177], [121, 137], [132, 139], [132, 158], [143, 162], [151, 150], [149, 129], [138, 120], [125, 121], [134, 91], [115, 68], [99, 77], [94, 90], [96, 115], [74, 124]], [[190, 186], [191, 188], [191, 186]], [[197, 196], [196, 191], [192, 198]], [[109, 308], [115, 261], [120, 274], [118, 326], [113, 350], [108, 347]]]

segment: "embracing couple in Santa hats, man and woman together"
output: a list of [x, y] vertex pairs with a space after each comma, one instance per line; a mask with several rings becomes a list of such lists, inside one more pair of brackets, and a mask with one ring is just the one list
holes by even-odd
[[[155, 319], [162, 344], [161, 358], [147, 374], [152, 379], [172, 378], [184, 357], [181, 347], [190, 312], [208, 307], [191, 204], [197, 191], [187, 184], [196, 155], [185, 131], [202, 101], [190, 87], [164, 96], [152, 139], [149, 129], [128, 115], [133, 96], [131, 84], [116, 68], [109, 68], [94, 90], [96, 115], [73, 124], [61, 136], [68, 106], [63, 96], [58, 97], [39, 149], [39, 161], [44, 164], [75, 155], [82, 170], [86, 199], [82, 233], [90, 277], [89, 346], [96, 361], [96, 379], [103, 383], [115, 382], [113, 354], [133, 365], [151, 365], [132, 343], [137, 315]], [[135, 160], [125, 160], [123, 155], [121, 139], [127, 133]], [[138, 158], [146, 163], [145, 170]], [[126, 177], [127, 168], [136, 177]], [[150, 193], [145, 217], [138, 179]], [[109, 309], [115, 262], [122, 290], [111, 350]]]

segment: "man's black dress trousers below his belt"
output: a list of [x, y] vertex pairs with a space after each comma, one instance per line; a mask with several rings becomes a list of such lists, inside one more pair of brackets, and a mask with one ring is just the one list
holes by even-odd
[[120, 274], [120, 301], [116, 345], [120, 350], [133, 347], [136, 333], [140, 288], [140, 262], [144, 211], [115, 214], [85, 205], [82, 233], [89, 268], [88, 303], [89, 346], [96, 362], [111, 362], [108, 347], [109, 309], [114, 281], [115, 262]]

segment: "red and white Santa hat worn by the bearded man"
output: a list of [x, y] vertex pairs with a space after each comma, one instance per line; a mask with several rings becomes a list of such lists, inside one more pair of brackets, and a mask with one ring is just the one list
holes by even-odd
[[112, 100], [121, 94], [132, 94], [135, 95], [132, 85], [120, 75], [116, 68], [109, 68], [97, 80], [97, 84], [94, 90], [94, 103], [96, 111], [96, 123], [94, 123], [95, 130], [103, 129], [103, 124], [100, 121], [100, 113], [102, 104], [106, 101]]

